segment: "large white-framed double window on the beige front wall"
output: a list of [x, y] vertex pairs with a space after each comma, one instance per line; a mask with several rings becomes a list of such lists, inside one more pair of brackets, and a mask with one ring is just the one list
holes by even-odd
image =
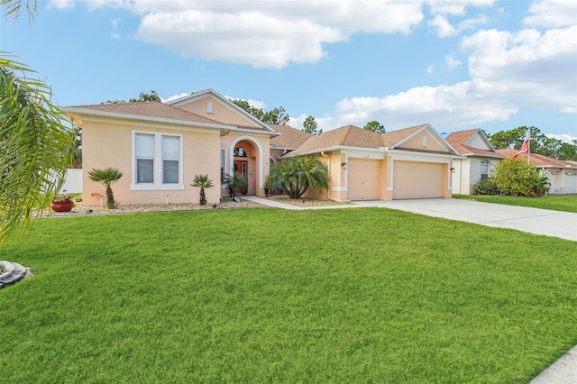
[[182, 135], [133, 131], [132, 190], [184, 189]]

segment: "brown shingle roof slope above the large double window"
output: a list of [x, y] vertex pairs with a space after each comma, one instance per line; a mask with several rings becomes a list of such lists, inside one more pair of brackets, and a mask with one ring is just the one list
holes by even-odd
[[160, 101], [151, 101], [147, 103], [119, 103], [119, 104], [98, 104], [98, 105], [74, 105], [67, 107], [108, 114], [126, 114], [133, 116], [145, 116], [160, 119], [180, 120], [191, 123], [214, 123], [223, 124], [215, 120], [207, 119], [198, 114], [184, 111], [175, 106], [166, 105]]

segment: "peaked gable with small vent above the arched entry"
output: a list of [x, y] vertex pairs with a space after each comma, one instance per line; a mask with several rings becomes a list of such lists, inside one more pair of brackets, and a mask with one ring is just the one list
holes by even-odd
[[267, 124], [262, 123], [252, 114], [235, 105], [231, 100], [218, 94], [214, 89], [206, 89], [179, 97], [167, 102], [167, 104], [220, 123], [232, 124], [251, 130], [274, 132]]

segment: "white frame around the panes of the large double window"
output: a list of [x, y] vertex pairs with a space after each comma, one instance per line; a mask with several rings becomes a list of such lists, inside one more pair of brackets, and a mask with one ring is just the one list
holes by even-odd
[[[136, 135], [148, 134], [154, 136], [154, 176], [152, 183], [137, 183], [136, 182]], [[179, 138], [179, 182], [164, 184], [162, 182], [162, 137], [178, 137]], [[184, 158], [183, 158], [183, 135], [180, 133], [162, 133], [152, 131], [137, 131], [133, 130], [132, 134], [132, 179], [130, 190], [144, 191], [144, 190], [184, 190]]]

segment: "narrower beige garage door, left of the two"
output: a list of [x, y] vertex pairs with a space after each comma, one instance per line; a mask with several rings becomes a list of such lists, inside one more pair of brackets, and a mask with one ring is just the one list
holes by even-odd
[[349, 199], [379, 200], [380, 160], [348, 159]]

